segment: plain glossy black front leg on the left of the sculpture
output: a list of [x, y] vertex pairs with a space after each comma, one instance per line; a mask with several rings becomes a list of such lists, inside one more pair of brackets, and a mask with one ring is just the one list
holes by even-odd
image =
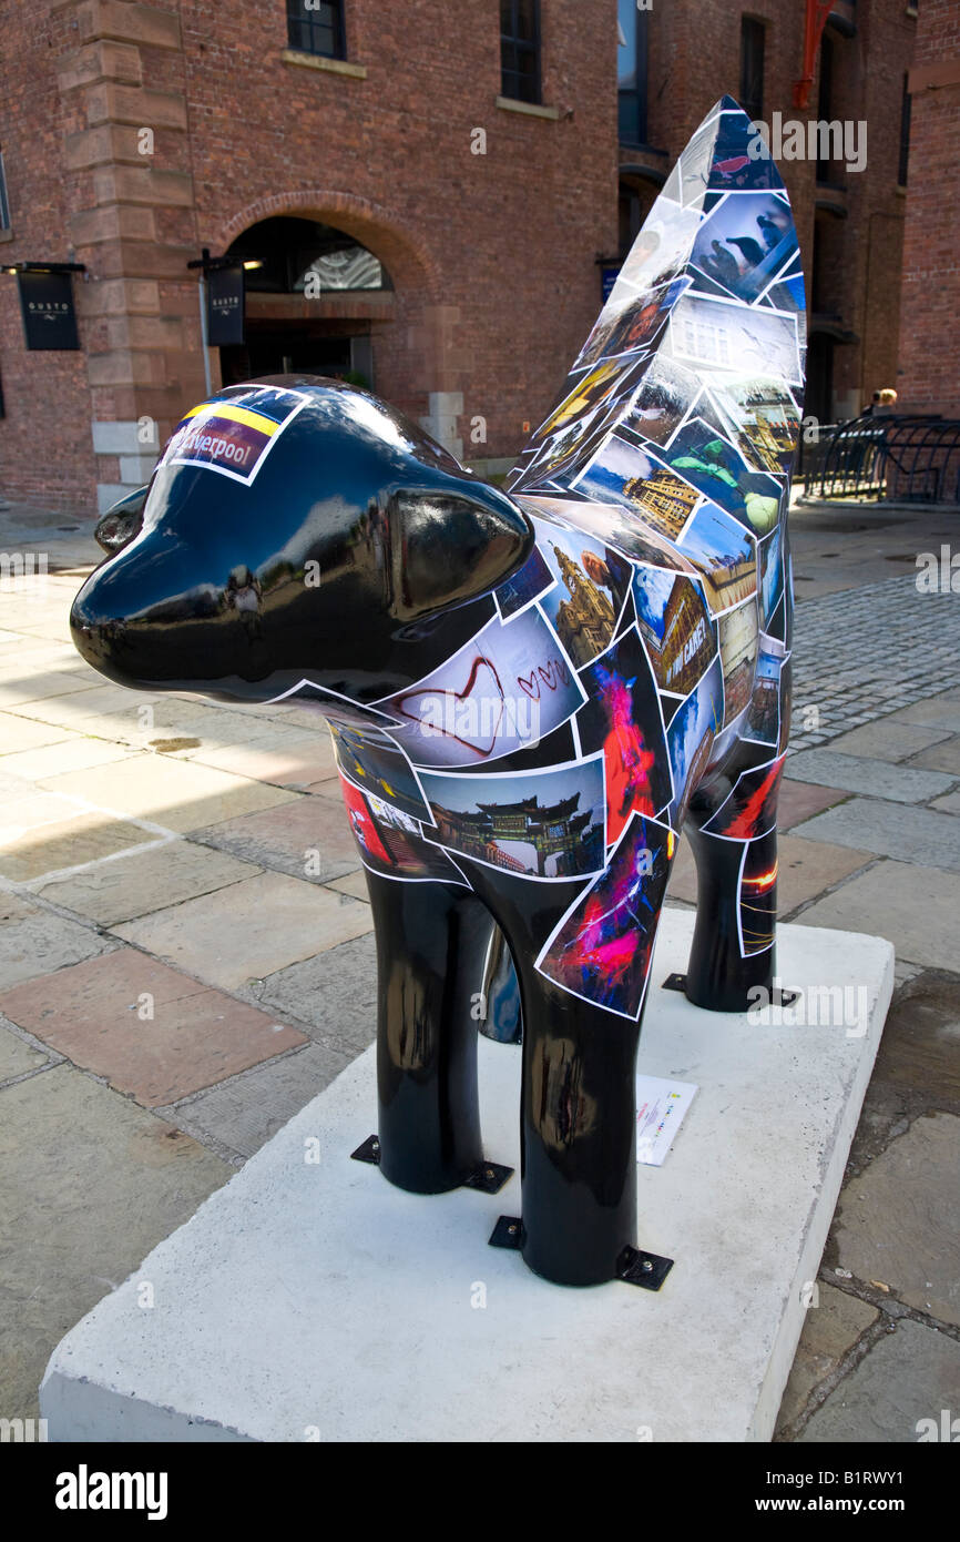
[[381, 1169], [401, 1189], [456, 1189], [482, 1156], [478, 993], [492, 919], [465, 888], [367, 871], [379, 967]]

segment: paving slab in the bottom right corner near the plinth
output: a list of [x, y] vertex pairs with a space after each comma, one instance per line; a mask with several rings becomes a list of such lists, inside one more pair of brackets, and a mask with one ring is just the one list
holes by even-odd
[[840, 1382], [798, 1440], [912, 1445], [925, 1428], [920, 1420], [938, 1425], [943, 1408], [958, 1406], [960, 1343], [903, 1320]]

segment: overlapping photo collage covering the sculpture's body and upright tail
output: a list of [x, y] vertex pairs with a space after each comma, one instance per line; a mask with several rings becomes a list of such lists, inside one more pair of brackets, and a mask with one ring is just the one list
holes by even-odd
[[536, 543], [492, 618], [374, 729], [334, 728], [367, 867], [573, 885], [536, 967], [627, 1018], [690, 796], [735, 745], [704, 833], [743, 847], [741, 951], [772, 944], [806, 333], [789, 202], [747, 136], [724, 102], [684, 151], [507, 480]]

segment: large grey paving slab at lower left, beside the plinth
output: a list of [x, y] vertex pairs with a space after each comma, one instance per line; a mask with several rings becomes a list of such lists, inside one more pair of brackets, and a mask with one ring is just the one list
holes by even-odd
[[233, 1172], [190, 1135], [59, 1066], [0, 1092], [3, 1412], [37, 1412], [52, 1346]]

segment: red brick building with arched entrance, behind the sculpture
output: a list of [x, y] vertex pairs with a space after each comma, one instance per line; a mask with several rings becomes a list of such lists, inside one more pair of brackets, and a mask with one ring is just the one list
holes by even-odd
[[12, 9], [0, 264], [86, 273], [72, 353], [25, 350], [0, 276], [0, 493], [92, 512], [149, 475], [205, 393], [203, 248], [259, 264], [214, 386], [351, 372], [465, 460], [512, 456], [595, 319], [596, 259], [724, 91], [767, 122], [868, 123], [864, 170], [781, 167], [812, 276], [809, 410], [851, 415], [895, 379], [915, 25], [903, 0], [837, 0], [794, 109], [801, 0]]

